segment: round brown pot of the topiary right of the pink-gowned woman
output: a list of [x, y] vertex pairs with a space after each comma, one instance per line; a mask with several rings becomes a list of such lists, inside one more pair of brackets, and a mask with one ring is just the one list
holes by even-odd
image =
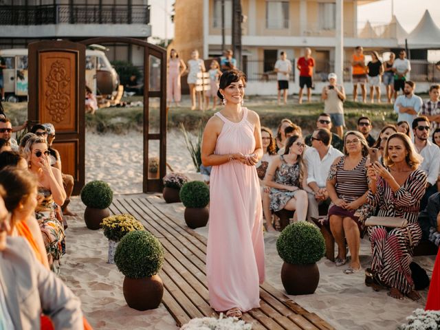
[[319, 269], [316, 263], [292, 265], [283, 263], [281, 281], [287, 294], [313, 294], [319, 283]]

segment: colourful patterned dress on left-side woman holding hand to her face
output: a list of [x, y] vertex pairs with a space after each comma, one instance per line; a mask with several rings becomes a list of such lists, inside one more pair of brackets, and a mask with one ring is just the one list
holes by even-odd
[[35, 217], [43, 234], [50, 268], [52, 272], [59, 274], [61, 255], [65, 246], [63, 219], [49, 189], [39, 187], [39, 196], [43, 197], [43, 201], [36, 207]]

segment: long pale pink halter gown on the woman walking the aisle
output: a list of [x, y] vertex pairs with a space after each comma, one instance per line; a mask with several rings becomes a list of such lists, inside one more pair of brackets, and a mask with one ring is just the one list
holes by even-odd
[[[215, 154], [254, 152], [254, 124], [223, 121]], [[212, 166], [206, 274], [210, 305], [216, 311], [259, 307], [259, 284], [265, 277], [263, 210], [255, 166], [238, 161]]]

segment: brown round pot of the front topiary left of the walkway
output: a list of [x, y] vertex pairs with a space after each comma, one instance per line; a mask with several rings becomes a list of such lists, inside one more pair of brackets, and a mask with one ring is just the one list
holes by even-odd
[[147, 278], [124, 278], [124, 298], [133, 309], [146, 311], [159, 307], [164, 296], [164, 283], [158, 275]]

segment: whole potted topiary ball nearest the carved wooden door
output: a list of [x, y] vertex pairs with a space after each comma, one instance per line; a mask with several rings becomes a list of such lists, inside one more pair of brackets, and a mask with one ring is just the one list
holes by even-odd
[[81, 201], [87, 206], [84, 221], [87, 228], [97, 230], [105, 217], [109, 217], [109, 206], [113, 201], [113, 191], [104, 181], [90, 181], [81, 190]]

